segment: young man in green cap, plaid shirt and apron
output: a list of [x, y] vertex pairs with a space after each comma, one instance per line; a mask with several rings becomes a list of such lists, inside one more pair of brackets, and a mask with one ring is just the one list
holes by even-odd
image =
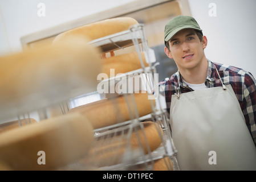
[[181, 170], [256, 169], [256, 81], [206, 59], [208, 40], [191, 16], [165, 26], [165, 53], [178, 71], [160, 82]]

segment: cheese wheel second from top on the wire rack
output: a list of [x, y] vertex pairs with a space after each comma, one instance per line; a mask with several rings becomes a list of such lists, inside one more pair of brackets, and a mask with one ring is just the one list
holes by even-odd
[[[145, 60], [144, 52], [141, 52], [141, 60], [144, 67], [148, 67]], [[102, 73], [106, 73], [108, 77], [116, 76], [118, 73], [127, 73], [142, 68], [140, 57], [137, 52], [125, 53], [123, 55], [111, 56], [101, 59]], [[110, 69], [115, 69], [115, 74], [111, 74]]]

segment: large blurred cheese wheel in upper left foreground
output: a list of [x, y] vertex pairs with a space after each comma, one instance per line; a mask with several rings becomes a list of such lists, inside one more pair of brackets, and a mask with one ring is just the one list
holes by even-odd
[[[17, 107], [34, 111], [97, 87], [100, 51], [79, 36], [0, 57], [2, 115]], [[15, 113], [16, 112], [16, 113]], [[13, 115], [11, 115], [13, 117]]]

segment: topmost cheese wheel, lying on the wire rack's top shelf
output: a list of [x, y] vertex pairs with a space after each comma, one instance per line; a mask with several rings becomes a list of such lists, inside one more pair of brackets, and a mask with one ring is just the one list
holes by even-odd
[[105, 19], [63, 32], [62, 34], [56, 36], [54, 43], [70, 38], [74, 35], [82, 35], [91, 41], [94, 39], [103, 38], [107, 35], [116, 34], [117, 32], [128, 30], [129, 27], [134, 24], [139, 23], [137, 20], [130, 17]]

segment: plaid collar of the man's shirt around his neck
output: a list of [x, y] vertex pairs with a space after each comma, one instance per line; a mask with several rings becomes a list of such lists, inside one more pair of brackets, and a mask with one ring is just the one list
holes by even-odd
[[[215, 77], [215, 73], [216, 73], [216, 69], [214, 68], [213, 62], [210, 60], [208, 61], [208, 71], [207, 71], [207, 76], [206, 76], [206, 81], [215, 81], [216, 77]], [[187, 85], [185, 84], [184, 80], [182, 79], [182, 76], [180, 74], [180, 71], [177, 72], [177, 80], [178, 80], [178, 84], [177, 84], [177, 90], [180, 89], [181, 87], [186, 87]]]

